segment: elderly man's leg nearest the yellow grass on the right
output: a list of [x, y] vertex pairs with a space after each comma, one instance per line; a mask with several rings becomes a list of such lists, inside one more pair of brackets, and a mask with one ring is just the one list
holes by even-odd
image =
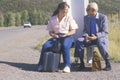
[[97, 41], [98, 49], [105, 60], [106, 70], [111, 70], [111, 64], [109, 61], [108, 55], [108, 39], [107, 38], [99, 38]]

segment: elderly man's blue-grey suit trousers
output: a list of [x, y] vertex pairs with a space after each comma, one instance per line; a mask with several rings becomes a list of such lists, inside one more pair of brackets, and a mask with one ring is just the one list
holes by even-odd
[[80, 59], [83, 60], [84, 47], [91, 46], [91, 45], [97, 45], [102, 57], [106, 62], [106, 65], [110, 65], [109, 55], [108, 55], [108, 39], [104, 37], [99, 38], [95, 41], [92, 41], [91, 43], [86, 43], [84, 38], [79, 38], [79, 40], [76, 41], [74, 56], [80, 57]]

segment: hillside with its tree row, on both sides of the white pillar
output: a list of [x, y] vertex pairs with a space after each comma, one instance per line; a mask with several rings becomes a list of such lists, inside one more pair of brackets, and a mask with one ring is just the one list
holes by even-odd
[[[45, 24], [62, 0], [0, 0], [0, 26], [19, 26], [30, 21], [32, 25]], [[105, 14], [120, 14], [120, 0], [89, 0], [99, 5]]]

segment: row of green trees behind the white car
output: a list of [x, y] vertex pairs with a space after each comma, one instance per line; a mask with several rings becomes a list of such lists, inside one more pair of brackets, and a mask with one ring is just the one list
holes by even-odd
[[7, 12], [5, 14], [0, 13], [0, 27], [8, 26], [21, 26], [26, 21], [31, 22], [32, 25], [45, 24], [49, 15], [40, 10], [21, 11], [21, 12]]

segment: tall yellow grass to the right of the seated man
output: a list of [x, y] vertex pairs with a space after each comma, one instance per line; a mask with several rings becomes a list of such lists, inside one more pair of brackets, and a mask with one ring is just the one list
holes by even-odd
[[120, 20], [109, 22], [109, 54], [113, 61], [120, 62]]

